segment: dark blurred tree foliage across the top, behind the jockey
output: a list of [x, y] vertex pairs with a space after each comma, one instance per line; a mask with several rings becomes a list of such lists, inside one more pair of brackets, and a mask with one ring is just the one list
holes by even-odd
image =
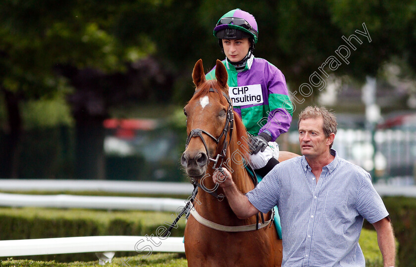
[[18, 136], [20, 103], [62, 90], [76, 124], [99, 125], [111, 107], [126, 103], [185, 103], [195, 62], [202, 58], [209, 69], [224, 58], [212, 30], [234, 8], [256, 17], [255, 55], [281, 69], [292, 91], [311, 83], [312, 74], [347, 45], [343, 37], [364, 31], [363, 24], [371, 42], [360, 36], [363, 43], [350, 49], [348, 63], [339, 59], [336, 70], [326, 64], [328, 75], [364, 81], [392, 58], [416, 72], [415, 0], [3, 0], [5, 128]]

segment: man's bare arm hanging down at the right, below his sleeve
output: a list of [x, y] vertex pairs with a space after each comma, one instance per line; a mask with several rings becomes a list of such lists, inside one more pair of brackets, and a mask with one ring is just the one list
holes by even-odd
[[383, 255], [384, 267], [395, 265], [396, 244], [393, 227], [388, 217], [372, 224], [377, 232], [378, 247]]

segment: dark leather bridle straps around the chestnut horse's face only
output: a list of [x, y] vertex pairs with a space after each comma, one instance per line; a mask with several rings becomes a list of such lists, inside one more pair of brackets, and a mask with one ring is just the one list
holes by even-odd
[[[218, 92], [217, 90], [212, 89], [212, 88], [210, 88], [209, 91], [210, 92]], [[195, 93], [196, 92], [198, 92], [198, 91], [195, 91]], [[186, 144], [185, 144], [185, 150], [186, 150], [188, 148], [189, 142], [191, 141], [192, 137], [198, 137], [199, 136], [201, 138], [202, 142], [204, 143], [205, 150], [207, 151], [207, 155], [209, 157], [208, 146], [207, 146], [207, 143], [205, 142], [204, 136], [202, 134], [203, 133], [204, 134], [207, 134], [209, 137], [211, 137], [212, 139], [214, 139], [214, 141], [215, 141], [215, 143], [217, 145], [218, 145], [219, 141], [221, 140], [221, 137], [222, 136], [225, 136], [224, 137], [224, 143], [223, 143], [223, 146], [222, 146], [221, 153], [220, 154], [217, 154], [215, 159], [214, 158], [209, 158], [209, 160], [214, 163], [214, 166], [212, 167], [213, 169], [219, 169], [221, 167], [221, 164], [224, 161], [225, 154], [227, 152], [227, 147], [229, 145], [229, 142], [227, 142], [227, 134], [229, 133], [228, 134], [229, 135], [229, 140], [231, 141], [231, 135], [233, 133], [233, 125], [234, 125], [233, 105], [231, 103], [231, 99], [224, 92], [222, 92], [222, 95], [224, 95], [225, 99], [227, 99], [227, 102], [228, 102], [227, 119], [225, 120], [225, 125], [224, 125], [224, 129], [222, 130], [222, 133], [218, 137], [215, 137], [212, 134], [209, 134], [205, 130], [202, 130], [202, 129], [193, 129], [189, 133], [188, 138], [186, 139]]]

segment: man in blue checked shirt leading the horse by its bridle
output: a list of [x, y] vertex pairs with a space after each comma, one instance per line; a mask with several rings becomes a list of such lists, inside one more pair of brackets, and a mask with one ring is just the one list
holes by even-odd
[[384, 267], [395, 264], [395, 241], [389, 214], [362, 168], [332, 149], [335, 116], [322, 107], [299, 115], [302, 157], [278, 164], [256, 188], [237, 190], [237, 176], [224, 169], [214, 173], [228, 203], [244, 219], [279, 208], [283, 267], [363, 267], [358, 243], [364, 219], [376, 232]]

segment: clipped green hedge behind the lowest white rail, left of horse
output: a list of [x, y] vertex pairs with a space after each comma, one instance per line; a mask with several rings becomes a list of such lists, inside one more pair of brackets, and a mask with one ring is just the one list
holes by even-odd
[[[0, 240], [54, 238], [94, 235], [138, 235], [156, 233], [157, 227], [171, 223], [176, 214], [141, 211], [96, 211], [80, 209], [0, 208]], [[171, 236], [183, 236], [180, 220]], [[117, 252], [134, 256], [136, 252]], [[94, 261], [94, 253], [14, 257], [57, 262]]]

